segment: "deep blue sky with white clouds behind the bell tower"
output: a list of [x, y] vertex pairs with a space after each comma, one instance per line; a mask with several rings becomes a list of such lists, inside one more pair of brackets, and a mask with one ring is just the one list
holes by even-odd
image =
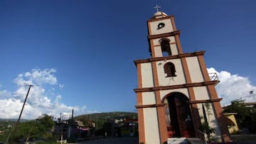
[[[134, 60], [149, 58], [146, 21], [174, 15], [183, 52], [206, 50], [223, 104], [256, 101], [256, 1], [0, 1], [0, 118], [136, 112]], [[31, 84], [30, 83], [30, 84]], [[228, 90], [227, 90], [228, 89]]]

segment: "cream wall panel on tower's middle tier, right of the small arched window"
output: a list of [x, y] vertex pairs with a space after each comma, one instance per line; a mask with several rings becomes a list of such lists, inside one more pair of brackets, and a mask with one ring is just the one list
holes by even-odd
[[203, 82], [203, 74], [198, 62], [198, 57], [186, 57], [188, 71], [192, 82]]

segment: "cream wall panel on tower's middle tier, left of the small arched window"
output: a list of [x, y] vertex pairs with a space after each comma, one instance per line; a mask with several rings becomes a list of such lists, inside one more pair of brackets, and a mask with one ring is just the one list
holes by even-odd
[[153, 87], [154, 81], [153, 81], [153, 72], [151, 63], [142, 63], [141, 67], [142, 71], [142, 87]]

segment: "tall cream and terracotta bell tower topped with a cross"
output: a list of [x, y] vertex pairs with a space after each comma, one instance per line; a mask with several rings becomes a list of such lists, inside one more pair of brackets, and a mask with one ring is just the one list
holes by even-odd
[[215, 91], [217, 77], [210, 79], [203, 60], [204, 51], [183, 53], [174, 16], [159, 11], [147, 21], [149, 52], [137, 66], [137, 111], [139, 143], [168, 143], [168, 138], [203, 139], [199, 129], [208, 104], [208, 123], [214, 138], [229, 142], [220, 98]]

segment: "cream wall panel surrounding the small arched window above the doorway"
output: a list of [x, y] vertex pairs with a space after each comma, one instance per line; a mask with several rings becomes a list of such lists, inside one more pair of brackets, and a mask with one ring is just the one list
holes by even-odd
[[[175, 65], [176, 68], [176, 77], [166, 77], [166, 74], [164, 73], [164, 64], [167, 62], [172, 62]], [[170, 86], [170, 85], [176, 85], [176, 84], [185, 84], [185, 77], [181, 65], [181, 60], [166, 60], [166, 61], [159, 61], [156, 62], [157, 65], [157, 74], [159, 78], [159, 86]]]

